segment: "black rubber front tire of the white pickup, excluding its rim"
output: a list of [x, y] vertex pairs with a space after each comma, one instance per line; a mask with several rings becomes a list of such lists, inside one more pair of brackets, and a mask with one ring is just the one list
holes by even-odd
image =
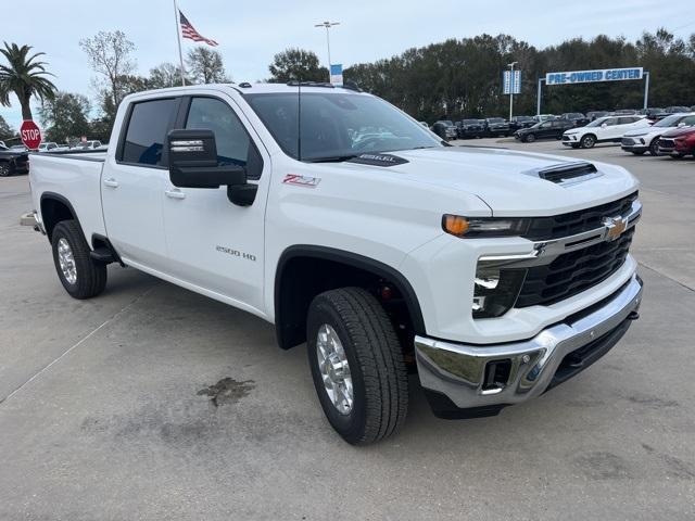
[[[396, 432], [408, 409], [408, 382], [401, 344], [383, 307], [362, 288], [317, 295], [306, 321], [308, 363], [321, 408], [350, 444], [367, 445]], [[319, 329], [338, 335], [350, 366], [353, 404], [342, 414], [328, 395], [317, 354]]]

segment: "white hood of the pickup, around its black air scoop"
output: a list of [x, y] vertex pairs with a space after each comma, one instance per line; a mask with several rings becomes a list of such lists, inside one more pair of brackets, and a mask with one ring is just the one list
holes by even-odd
[[[370, 168], [376, 170], [375, 175], [397, 176], [420, 185], [421, 189], [430, 185], [467, 192], [484, 201], [493, 215], [509, 217], [582, 209], [632, 193], [639, 186], [624, 168], [595, 162], [596, 176], [558, 185], [540, 178], [538, 170], [579, 160], [505, 149], [451, 147], [397, 151], [391, 155], [407, 163], [393, 166], [341, 163], [336, 166]], [[426, 196], [422, 190], [422, 198]]]

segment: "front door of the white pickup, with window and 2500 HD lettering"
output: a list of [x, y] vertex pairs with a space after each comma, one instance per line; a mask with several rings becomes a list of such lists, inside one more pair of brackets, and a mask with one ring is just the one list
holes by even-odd
[[249, 176], [251, 182], [258, 183], [256, 199], [250, 206], [237, 206], [227, 198], [226, 187], [180, 188], [172, 196], [176, 189], [167, 181], [164, 191], [169, 193], [164, 196], [163, 208], [170, 271], [188, 283], [245, 305], [242, 307], [263, 312], [264, 217], [270, 158], [263, 148], [255, 147], [233, 100], [222, 96], [192, 98], [179, 124], [186, 122], [185, 128], [215, 132], [218, 164], [263, 165]]

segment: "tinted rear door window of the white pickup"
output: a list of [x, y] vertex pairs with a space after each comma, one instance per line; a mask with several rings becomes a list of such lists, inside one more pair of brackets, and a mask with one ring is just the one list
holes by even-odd
[[166, 166], [164, 143], [178, 100], [174, 98], [135, 103], [121, 152], [123, 163]]

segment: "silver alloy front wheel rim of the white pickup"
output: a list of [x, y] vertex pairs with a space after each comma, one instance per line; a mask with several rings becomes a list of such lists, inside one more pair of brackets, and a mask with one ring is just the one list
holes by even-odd
[[349, 415], [353, 405], [350, 365], [338, 333], [328, 323], [318, 328], [316, 355], [328, 397], [341, 415]]

